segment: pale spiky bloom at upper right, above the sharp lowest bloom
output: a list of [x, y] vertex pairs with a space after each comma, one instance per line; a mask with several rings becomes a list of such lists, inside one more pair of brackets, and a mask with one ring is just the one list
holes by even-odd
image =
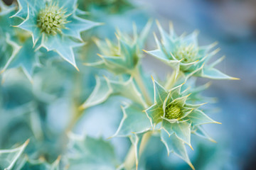
[[172, 24], [168, 34], [161, 28], [158, 22], [156, 23], [161, 34], [161, 42], [155, 35], [158, 48], [152, 51], [145, 50], [145, 52], [171, 66], [176, 72], [176, 77], [180, 73], [186, 78], [193, 75], [209, 79], [236, 79], [214, 68], [224, 57], [221, 57], [212, 64], [206, 64], [219, 51], [219, 49], [212, 50], [216, 43], [198, 46], [198, 33], [196, 31], [190, 35], [177, 36]]

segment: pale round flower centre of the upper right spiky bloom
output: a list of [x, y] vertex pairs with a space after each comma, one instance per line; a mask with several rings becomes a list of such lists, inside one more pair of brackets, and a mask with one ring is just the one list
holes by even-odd
[[198, 48], [193, 44], [181, 45], [174, 52], [174, 57], [184, 63], [195, 62], [198, 59]]

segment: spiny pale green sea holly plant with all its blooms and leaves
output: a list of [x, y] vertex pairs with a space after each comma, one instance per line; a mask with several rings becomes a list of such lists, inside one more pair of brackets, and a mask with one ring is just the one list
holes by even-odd
[[[152, 138], [166, 157], [195, 169], [191, 135], [215, 142], [203, 125], [221, 124], [204, 109], [214, 101], [202, 95], [209, 83], [196, 80], [237, 78], [215, 68], [223, 60], [213, 61], [216, 43], [198, 45], [197, 32], [177, 35], [170, 24], [167, 33], [149, 16], [116, 18], [134, 9], [124, 0], [0, 1], [0, 169], [146, 169], [149, 147], [161, 149], [149, 145]], [[113, 33], [113, 18], [130, 28]], [[171, 67], [167, 77], [147, 70], [150, 56]], [[88, 123], [87, 115], [97, 119]], [[95, 135], [111, 121], [112, 134]]]

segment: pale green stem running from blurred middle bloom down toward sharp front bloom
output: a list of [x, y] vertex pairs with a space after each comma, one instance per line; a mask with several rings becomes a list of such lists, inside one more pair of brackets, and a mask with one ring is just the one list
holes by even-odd
[[139, 72], [139, 68], [136, 67], [132, 73], [131, 73], [132, 77], [134, 77], [134, 80], [136, 81], [137, 85], [139, 86], [139, 89], [142, 91], [142, 95], [144, 96], [146, 103], [150, 106], [151, 103], [151, 98], [149, 96], [149, 93], [146, 89], [146, 86], [144, 84], [143, 78], [142, 78], [142, 74], [141, 72]]

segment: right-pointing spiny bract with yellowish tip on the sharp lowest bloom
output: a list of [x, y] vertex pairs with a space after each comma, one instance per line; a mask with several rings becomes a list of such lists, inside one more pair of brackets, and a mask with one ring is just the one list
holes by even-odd
[[[215, 120], [212, 120], [208, 117], [203, 111], [200, 111], [198, 109], [194, 109], [187, 117], [189, 120], [191, 120], [192, 125], [203, 125], [207, 123], [218, 123]], [[220, 124], [220, 123], [218, 123]]]

